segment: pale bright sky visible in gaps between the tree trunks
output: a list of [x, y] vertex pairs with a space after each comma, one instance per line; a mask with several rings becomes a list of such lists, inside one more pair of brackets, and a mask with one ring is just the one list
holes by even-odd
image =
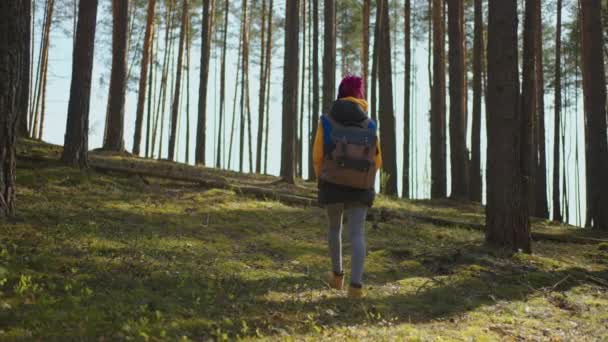
[[[103, 15], [100, 13], [100, 16]], [[38, 17], [41, 14], [37, 14]], [[99, 19], [98, 19], [99, 20]], [[234, 17], [230, 18], [231, 22], [234, 22]], [[37, 28], [37, 32], [39, 32], [39, 28]], [[98, 31], [99, 37], [99, 31]], [[34, 37], [36, 40], [36, 47], [38, 46], [38, 41], [40, 39], [39, 34], [36, 34]], [[45, 121], [45, 131], [43, 139], [45, 141], [54, 143], [54, 144], [63, 144], [64, 133], [65, 133], [65, 124], [66, 124], [66, 115], [67, 115], [67, 103], [69, 98], [69, 89], [70, 89], [70, 78], [71, 78], [71, 62], [72, 62], [72, 38], [67, 37], [62, 30], [58, 29], [57, 26], [54, 27], [51, 36], [52, 48], [49, 53], [49, 75], [48, 75], [48, 88], [47, 88], [47, 114]], [[280, 168], [280, 146], [281, 146], [281, 94], [282, 94], [282, 64], [283, 64], [283, 52], [282, 52], [282, 41], [280, 43], [279, 48], [275, 51], [273, 55], [273, 68], [272, 68], [272, 85], [271, 85], [271, 107], [270, 107], [270, 134], [269, 134], [269, 173], [277, 175], [279, 173]], [[322, 45], [322, 44], [321, 44]], [[195, 148], [195, 139], [196, 139], [196, 125], [197, 125], [197, 105], [198, 105], [198, 77], [199, 77], [199, 64], [200, 64], [200, 47], [194, 46], [192, 50], [192, 70], [191, 70], [191, 87], [190, 87], [190, 127], [191, 127], [191, 139], [188, 142], [190, 144], [191, 157], [190, 160], [194, 159], [193, 153]], [[426, 43], [416, 43], [413, 47], [413, 122], [412, 122], [412, 149], [410, 151], [411, 155], [411, 163], [415, 168], [412, 170], [412, 185], [411, 189], [413, 191], [415, 198], [428, 198], [430, 193], [430, 141], [429, 141], [429, 87], [428, 87], [428, 74], [427, 74], [427, 47]], [[102, 74], [106, 76], [109, 75], [109, 70], [103, 70], [102, 68], [109, 68], [102, 62], [102, 58], [100, 58], [101, 54], [110, 54], [109, 51], [102, 51], [99, 44], [96, 46], [95, 51], [95, 65], [94, 65], [94, 75], [93, 75], [93, 88], [92, 88], [92, 97], [91, 97], [91, 112], [90, 112], [90, 138], [89, 144], [90, 149], [94, 149], [100, 147], [103, 139], [103, 131], [104, 131], [104, 123], [105, 123], [105, 113], [107, 106], [107, 95], [108, 95], [108, 85], [107, 82], [104, 85], [101, 85], [99, 80], [102, 77]], [[218, 54], [219, 55], [219, 54]], [[105, 57], [104, 58], [108, 58]], [[321, 61], [322, 56], [320, 56]], [[235, 87], [235, 72], [237, 70], [236, 65], [237, 52], [229, 51], [228, 60], [227, 60], [227, 122], [226, 126], [230, 124], [230, 120], [232, 118], [232, 97], [234, 95], [234, 87]], [[393, 69], [396, 70], [394, 77], [394, 92], [395, 92], [395, 115], [397, 118], [397, 127], [395, 127], [397, 132], [397, 141], [399, 144], [403, 142], [403, 63], [399, 62], [402, 60], [402, 56], [397, 56], [397, 64], [393, 66]], [[338, 59], [339, 63], [339, 59]], [[258, 108], [258, 84], [259, 84], [259, 68], [257, 65], [250, 63], [250, 98], [251, 98], [251, 109], [252, 109], [252, 134], [254, 143], [256, 141], [256, 132], [257, 132], [257, 108]], [[338, 67], [340, 70], [340, 67]], [[102, 73], [102, 71], [104, 71]], [[139, 73], [139, 70], [135, 70], [135, 73]], [[337, 82], [341, 79], [342, 75], [336, 75]], [[209, 85], [210, 90], [208, 94], [208, 140], [207, 140], [207, 165], [213, 164], [212, 156], [214, 156], [216, 151], [216, 139], [213, 137], [217, 136], [217, 116], [214, 113], [219, 111], [219, 60], [213, 60], [210, 69], [209, 75]], [[306, 86], [308, 89], [308, 86]], [[337, 88], [337, 87], [336, 87]], [[306, 93], [308, 91], [306, 90]], [[471, 117], [470, 106], [472, 101], [470, 98], [472, 94], [469, 94], [469, 119]], [[182, 99], [185, 101], [185, 94], [182, 94]], [[237, 100], [238, 101], [238, 100]], [[582, 101], [582, 98], [581, 100]], [[447, 100], [449, 107], [449, 99]], [[548, 174], [548, 191], [549, 191], [549, 206], [551, 206], [551, 191], [552, 191], [552, 165], [553, 165], [553, 98], [551, 94], [548, 94], [545, 98], [545, 103], [547, 105], [546, 109], [546, 143], [547, 143], [547, 167], [549, 169]], [[131, 150], [132, 148], [132, 139], [133, 139], [133, 130], [134, 130], [134, 121], [135, 121], [135, 106], [136, 106], [136, 94], [128, 93], [127, 102], [126, 102], [126, 117], [125, 117], [125, 144], [127, 150]], [[238, 107], [238, 105], [237, 105]], [[580, 103], [579, 108], [582, 107], [582, 102]], [[167, 122], [168, 122], [168, 113], [169, 106], [167, 107]], [[308, 113], [308, 112], [307, 112]], [[449, 113], [449, 108], [448, 108]], [[237, 108], [238, 115], [238, 108]], [[449, 114], [448, 114], [449, 115]], [[568, 174], [566, 175], [567, 180], [567, 191], [570, 194], [570, 223], [572, 224], [580, 224], [584, 223], [584, 137], [582, 136], [582, 130], [579, 130], [581, 133], [576, 134], [576, 130], [572, 127], [578, 124], [578, 127], [583, 127], [583, 118], [582, 112], [568, 112], [564, 114], [564, 121], [566, 121], [566, 162], [568, 165]], [[485, 113], [484, 113], [485, 116]], [[179, 129], [180, 140], [178, 142], [178, 159], [179, 161], [185, 160], [185, 113], [182, 113], [181, 123]], [[225, 126], [225, 127], [226, 127]], [[165, 125], [165, 143], [164, 146], [166, 148], [168, 141], [168, 134], [166, 128], [168, 124]], [[239, 127], [238, 119], [236, 122], [236, 126]], [[485, 168], [485, 147], [486, 147], [486, 139], [485, 139], [485, 120], [482, 121], [482, 166]], [[305, 132], [307, 132], [310, 127], [306, 123], [305, 124]], [[470, 122], [469, 122], [470, 129]], [[226, 131], [227, 132], [227, 131]], [[145, 136], [145, 125], [144, 125], [144, 136]], [[574, 146], [574, 139], [579, 140], [579, 151], [578, 157], [580, 160], [580, 168], [577, 170], [575, 168], [575, 158], [576, 151], [569, 146]], [[228, 139], [226, 139], [226, 142]], [[145, 140], [142, 141], [142, 150], [145, 149]], [[449, 142], [449, 133], [448, 133], [448, 142]], [[470, 145], [470, 138], [469, 138]], [[233, 163], [231, 167], [233, 169], [238, 168], [238, 132], [235, 134], [235, 143], [233, 150]], [[227, 150], [224, 148], [224, 151]], [[247, 151], [247, 147], [245, 148]], [[402, 148], [397, 148], [398, 151], [398, 167], [401, 170], [402, 166], [402, 158], [403, 158], [403, 150]], [[449, 151], [449, 146], [448, 146]], [[253, 152], [255, 154], [255, 148], [253, 148]], [[308, 151], [305, 146], [305, 154], [307, 155]], [[449, 152], [448, 152], [449, 153]], [[236, 157], [234, 157], [236, 156]], [[166, 157], [166, 150], [163, 152], [163, 157]], [[249, 170], [248, 157], [245, 156], [245, 170]], [[254, 159], [255, 160], [255, 159]], [[448, 170], [449, 170], [449, 155], [448, 155]], [[304, 168], [305, 176], [307, 166]], [[401, 172], [401, 171], [400, 171]], [[580, 193], [577, 193], [575, 190], [577, 189], [577, 178], [580, 175]], [[448, 189], [449, 189], [449, 172], [448, 172]], [[399, 184], [401, 183], [401, 176], [399, 176]], [[401, 186], [401, 185], [399, 185]], [[576, 202], [578, 202], [577, 196], [583, 196], [583, 200], [581, 200], [582, 207], [576, 208]], [[575, 213], [580, 211], [580, 217], [577, 217]]]

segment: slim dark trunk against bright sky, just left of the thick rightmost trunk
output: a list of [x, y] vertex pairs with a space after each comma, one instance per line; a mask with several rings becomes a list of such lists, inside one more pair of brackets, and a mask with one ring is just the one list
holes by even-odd
[[555, 97], [554, 97], [554, 128], [553, 128], [553, 220], [563, 220], [559, 192], [560, 183], [560, 139], [562, 110], [562, 0], [557, 0], [557, 24], [555, 37]]

